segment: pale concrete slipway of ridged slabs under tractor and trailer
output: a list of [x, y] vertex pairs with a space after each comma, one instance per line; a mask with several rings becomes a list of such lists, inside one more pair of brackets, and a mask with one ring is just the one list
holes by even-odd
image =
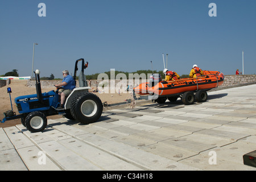
[[256, 170], [256, 85], [208, 93], [185, 106], [138, 102], [81, 125], [48, 119], [42, 133], [0, 128], [1, 170]]

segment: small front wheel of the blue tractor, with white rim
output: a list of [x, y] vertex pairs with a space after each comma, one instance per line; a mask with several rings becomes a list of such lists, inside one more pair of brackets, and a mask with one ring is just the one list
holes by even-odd
[[39, 111], [32, 112], [25, 118], [25, 126], [32, 133], [43, 131], [47, 126], [46, 115]]

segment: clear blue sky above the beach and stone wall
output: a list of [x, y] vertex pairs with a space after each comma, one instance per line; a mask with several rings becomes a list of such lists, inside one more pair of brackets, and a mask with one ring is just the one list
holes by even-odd
[[[39, 3], [46, 17], [39, 17]], [[208, 7], [216, 3], [217, 16]], [[89, 62], [86, 75], [115, 69], [168, 69], [188, 74], [201, 69], [233, 75], [256, 73], [255, 0], [1, 0], [0, 75], [18, 69], [31, 76], [61, 78], [75, 61]]]

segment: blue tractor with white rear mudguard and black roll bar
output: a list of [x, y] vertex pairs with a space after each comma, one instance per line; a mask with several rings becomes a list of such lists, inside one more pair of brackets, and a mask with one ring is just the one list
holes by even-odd
[[[79, 87], [72, 90], [71, 94], [66, 98], [63, 109], [57, 109], [60, 105], [59, 89], [42, 93], [39, 70], [35, 73], [36, 77], [36, 94], [28, 96], [19, 96], [15, 98], [15, 104], [18, 108], [19, 115], [12, 110], [3, 113], [5, 118], [1, 121], [9, 121], [12, 119], [21, 119], [22, 125], [32, 133], [43, 131], [47, 126], [47, 116], [62, 114], [64, 117], [79, 121], [84, 124], [96, 122], [101, 117], [103, 105], [96, 94], [89, 93], [90, 87], [87, 85], [84, 75], [84, 69], [88, 67], [88, 62], [84, 63], [84, 59], [76, 60], [74, 80], [76, 81], [76, 72], [78, 70], [77, 63], [82, 61], [82, 69], [79, 75]], [[11, 93], [11, 88], [7, 89]], [[11, 95], [10, 95], [11, 100]]]

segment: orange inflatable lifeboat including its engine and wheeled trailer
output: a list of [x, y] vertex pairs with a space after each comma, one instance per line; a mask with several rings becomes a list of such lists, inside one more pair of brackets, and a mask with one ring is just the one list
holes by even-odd
[[223, 84], [224, 74], [218, 71], [203, 71], [204, 75], [196, 78], [181, 78], [175, 81], [162, 81], [160, 77], [151, 76], [150, 82], [144, 82], [134, 88], [134, 92], [159, 104], [176, 101], [181, 98], [185, 105], [193, 102], [207, 101], [207, 91]]

